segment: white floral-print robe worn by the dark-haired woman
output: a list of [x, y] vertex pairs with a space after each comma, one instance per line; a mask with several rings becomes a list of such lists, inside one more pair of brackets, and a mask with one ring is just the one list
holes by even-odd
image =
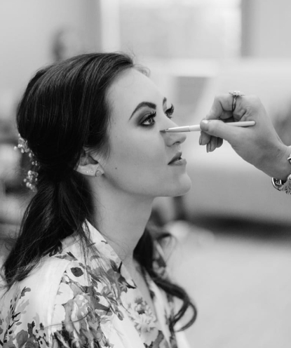
[[81, 243], [69, 236], [1, 298], [0, 347], [178, 347], [172, 299], [146, 276], [156, 317], [111, 246], [89, 228], [99, 257], [85, 263]]

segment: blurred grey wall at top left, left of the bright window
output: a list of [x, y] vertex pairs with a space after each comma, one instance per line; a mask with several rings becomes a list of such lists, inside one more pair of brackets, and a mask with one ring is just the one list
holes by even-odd
[[97, 0], [9, 0], [0, 2], [0, 93], [22, 91], [39, 67], [53, 61], [60, 29], [79, 36], [83, 51], [99, 48]]

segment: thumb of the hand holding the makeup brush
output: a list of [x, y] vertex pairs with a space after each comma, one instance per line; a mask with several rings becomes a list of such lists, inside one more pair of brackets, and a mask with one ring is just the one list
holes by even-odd
[[201, 131], [213, 135], [217, 138], [225, 139], [232, 143], [236, 140], [239, 127], [229, 126], [227, 123], [219, 120], [202, 120], [200, 123]]

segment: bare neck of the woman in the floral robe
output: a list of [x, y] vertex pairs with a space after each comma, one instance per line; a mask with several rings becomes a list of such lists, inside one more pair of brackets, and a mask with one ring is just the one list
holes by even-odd
[[133, 266], [133, 250], [144, 233], [153, 199], [125, 192], [95, 192], [95, 227], [104, 235], [123, 263]]

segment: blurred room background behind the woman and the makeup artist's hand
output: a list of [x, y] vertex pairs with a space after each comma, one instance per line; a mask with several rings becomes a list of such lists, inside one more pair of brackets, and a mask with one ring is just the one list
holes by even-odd
[[[10, 0], [0, 2], [0, 234], [17, 233], [31, 197], [14, 151], [15, 109], [36, 69], [93, 51], [126, 51], [151, 70], [175, 122], [199, 123], [217, 93], [258, 95], [291, 145], [289, 0]], [[172, 272], [198, 307], [191, 347], [290, 348], [291, 197], [228, 144], [184, 143], [193, 187], [157, 199], [177, 236]]]

